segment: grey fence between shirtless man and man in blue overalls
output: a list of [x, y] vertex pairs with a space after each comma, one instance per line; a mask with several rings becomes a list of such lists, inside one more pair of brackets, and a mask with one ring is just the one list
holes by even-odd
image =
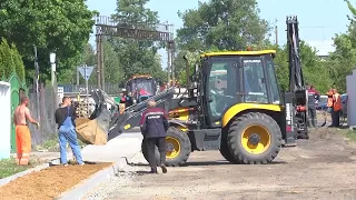
[[29, 91], [29, 109], [31, 111], [32, 118], [40, 122], [40, 128], [37, 129], [36, 126], [29, 126], [32, 144], [40, 146], [47, 140], [57, 139], [57, 126], [55, 121], [55, 97], [53, 89], [50, 86], [43, 88], [40, 86], [39, 97], [36, 96], [36, 90]]

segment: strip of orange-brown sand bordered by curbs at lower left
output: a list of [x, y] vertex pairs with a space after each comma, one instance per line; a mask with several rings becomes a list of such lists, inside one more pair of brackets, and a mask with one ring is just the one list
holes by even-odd
[[1, 200], [48, 200], [71, 189], [82, 180], [111, 163], [56, 166], [32, 172], [0, 187]]

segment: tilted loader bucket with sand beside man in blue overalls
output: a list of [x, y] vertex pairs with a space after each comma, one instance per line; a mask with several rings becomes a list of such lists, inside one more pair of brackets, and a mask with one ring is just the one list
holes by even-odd
[[92, 112], [87, 122], [77, 126], [77, 136], [78, 139], [86, 144], [106, 144], [108, 142], [111, 113], [107, 109], [107, 102], [103, 92], [100, 90], [92, 90], [90, 93], [96, 102], [96, 110]]

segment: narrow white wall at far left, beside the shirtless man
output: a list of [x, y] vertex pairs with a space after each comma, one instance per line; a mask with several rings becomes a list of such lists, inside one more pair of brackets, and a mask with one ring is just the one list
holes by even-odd
[[0, 81], [0, 160], [10, 158], [11, 151], [10, 83]]

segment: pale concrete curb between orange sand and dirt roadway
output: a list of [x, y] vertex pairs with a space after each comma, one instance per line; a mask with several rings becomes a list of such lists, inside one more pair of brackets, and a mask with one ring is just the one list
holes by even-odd
[[120, 170], [129, 164], [127, 157], [121, 157], [111, 167], [100, 170], [92, 174], [90, 178], [75, 186], [71, 190], [61, 193], [57, 200], [80, 200], [89, 191], [93, 190], [101, 182], [106, 182], [116, 176]]

